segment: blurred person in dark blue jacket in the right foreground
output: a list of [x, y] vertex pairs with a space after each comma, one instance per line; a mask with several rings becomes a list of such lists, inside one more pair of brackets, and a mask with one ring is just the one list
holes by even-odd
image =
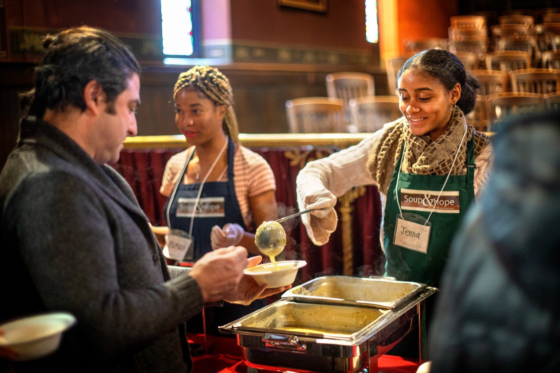
[[487, 187], [444, 272], [432, 373], [560, 371], [559, 114], [498, 125]]

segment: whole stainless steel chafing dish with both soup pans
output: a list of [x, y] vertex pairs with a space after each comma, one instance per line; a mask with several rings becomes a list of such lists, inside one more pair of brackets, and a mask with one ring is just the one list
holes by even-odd
[[324, 276], [220, 330], [236, 334], [250, 367], [374, 372], [377, 357], [410, 331], [436, 291], [414, 282]]

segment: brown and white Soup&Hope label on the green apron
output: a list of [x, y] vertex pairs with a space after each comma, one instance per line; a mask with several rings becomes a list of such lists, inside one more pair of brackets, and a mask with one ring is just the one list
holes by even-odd
[[[443, 214], [459, 214], [461, 206], [459, 205], [459, 191], [443, 191], [440, 199], [437, 196], [440, 191], [433, 190], [400, 190], [400, 208], [412, 211], [432, 211], [434, 213]], [[437, 204], [436, 204], [437, 201]], [[434, 209], [433, 206], [436, 205]]]

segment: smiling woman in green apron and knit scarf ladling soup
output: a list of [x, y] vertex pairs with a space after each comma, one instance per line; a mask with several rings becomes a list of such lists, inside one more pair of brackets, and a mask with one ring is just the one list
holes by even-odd
[[478, 82], [454, 54], [433, 49], [412, 56], [397, 84], [403, 117], [308, 163], [297, 176], [298, 205], [316, 209], [302, 221], [322, 245], [337, 226], [336, 196], [377, 185], [385, 275], [438, 287], [451, 239], [488, 178], [491, 144], [466, 123]]

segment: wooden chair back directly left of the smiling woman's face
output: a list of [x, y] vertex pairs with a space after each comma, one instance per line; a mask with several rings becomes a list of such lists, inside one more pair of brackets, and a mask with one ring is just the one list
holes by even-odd
[[357, 132], [375, 132], [403, 116], [397, 96], [365, 96], [350, 100], [352, 124]]

